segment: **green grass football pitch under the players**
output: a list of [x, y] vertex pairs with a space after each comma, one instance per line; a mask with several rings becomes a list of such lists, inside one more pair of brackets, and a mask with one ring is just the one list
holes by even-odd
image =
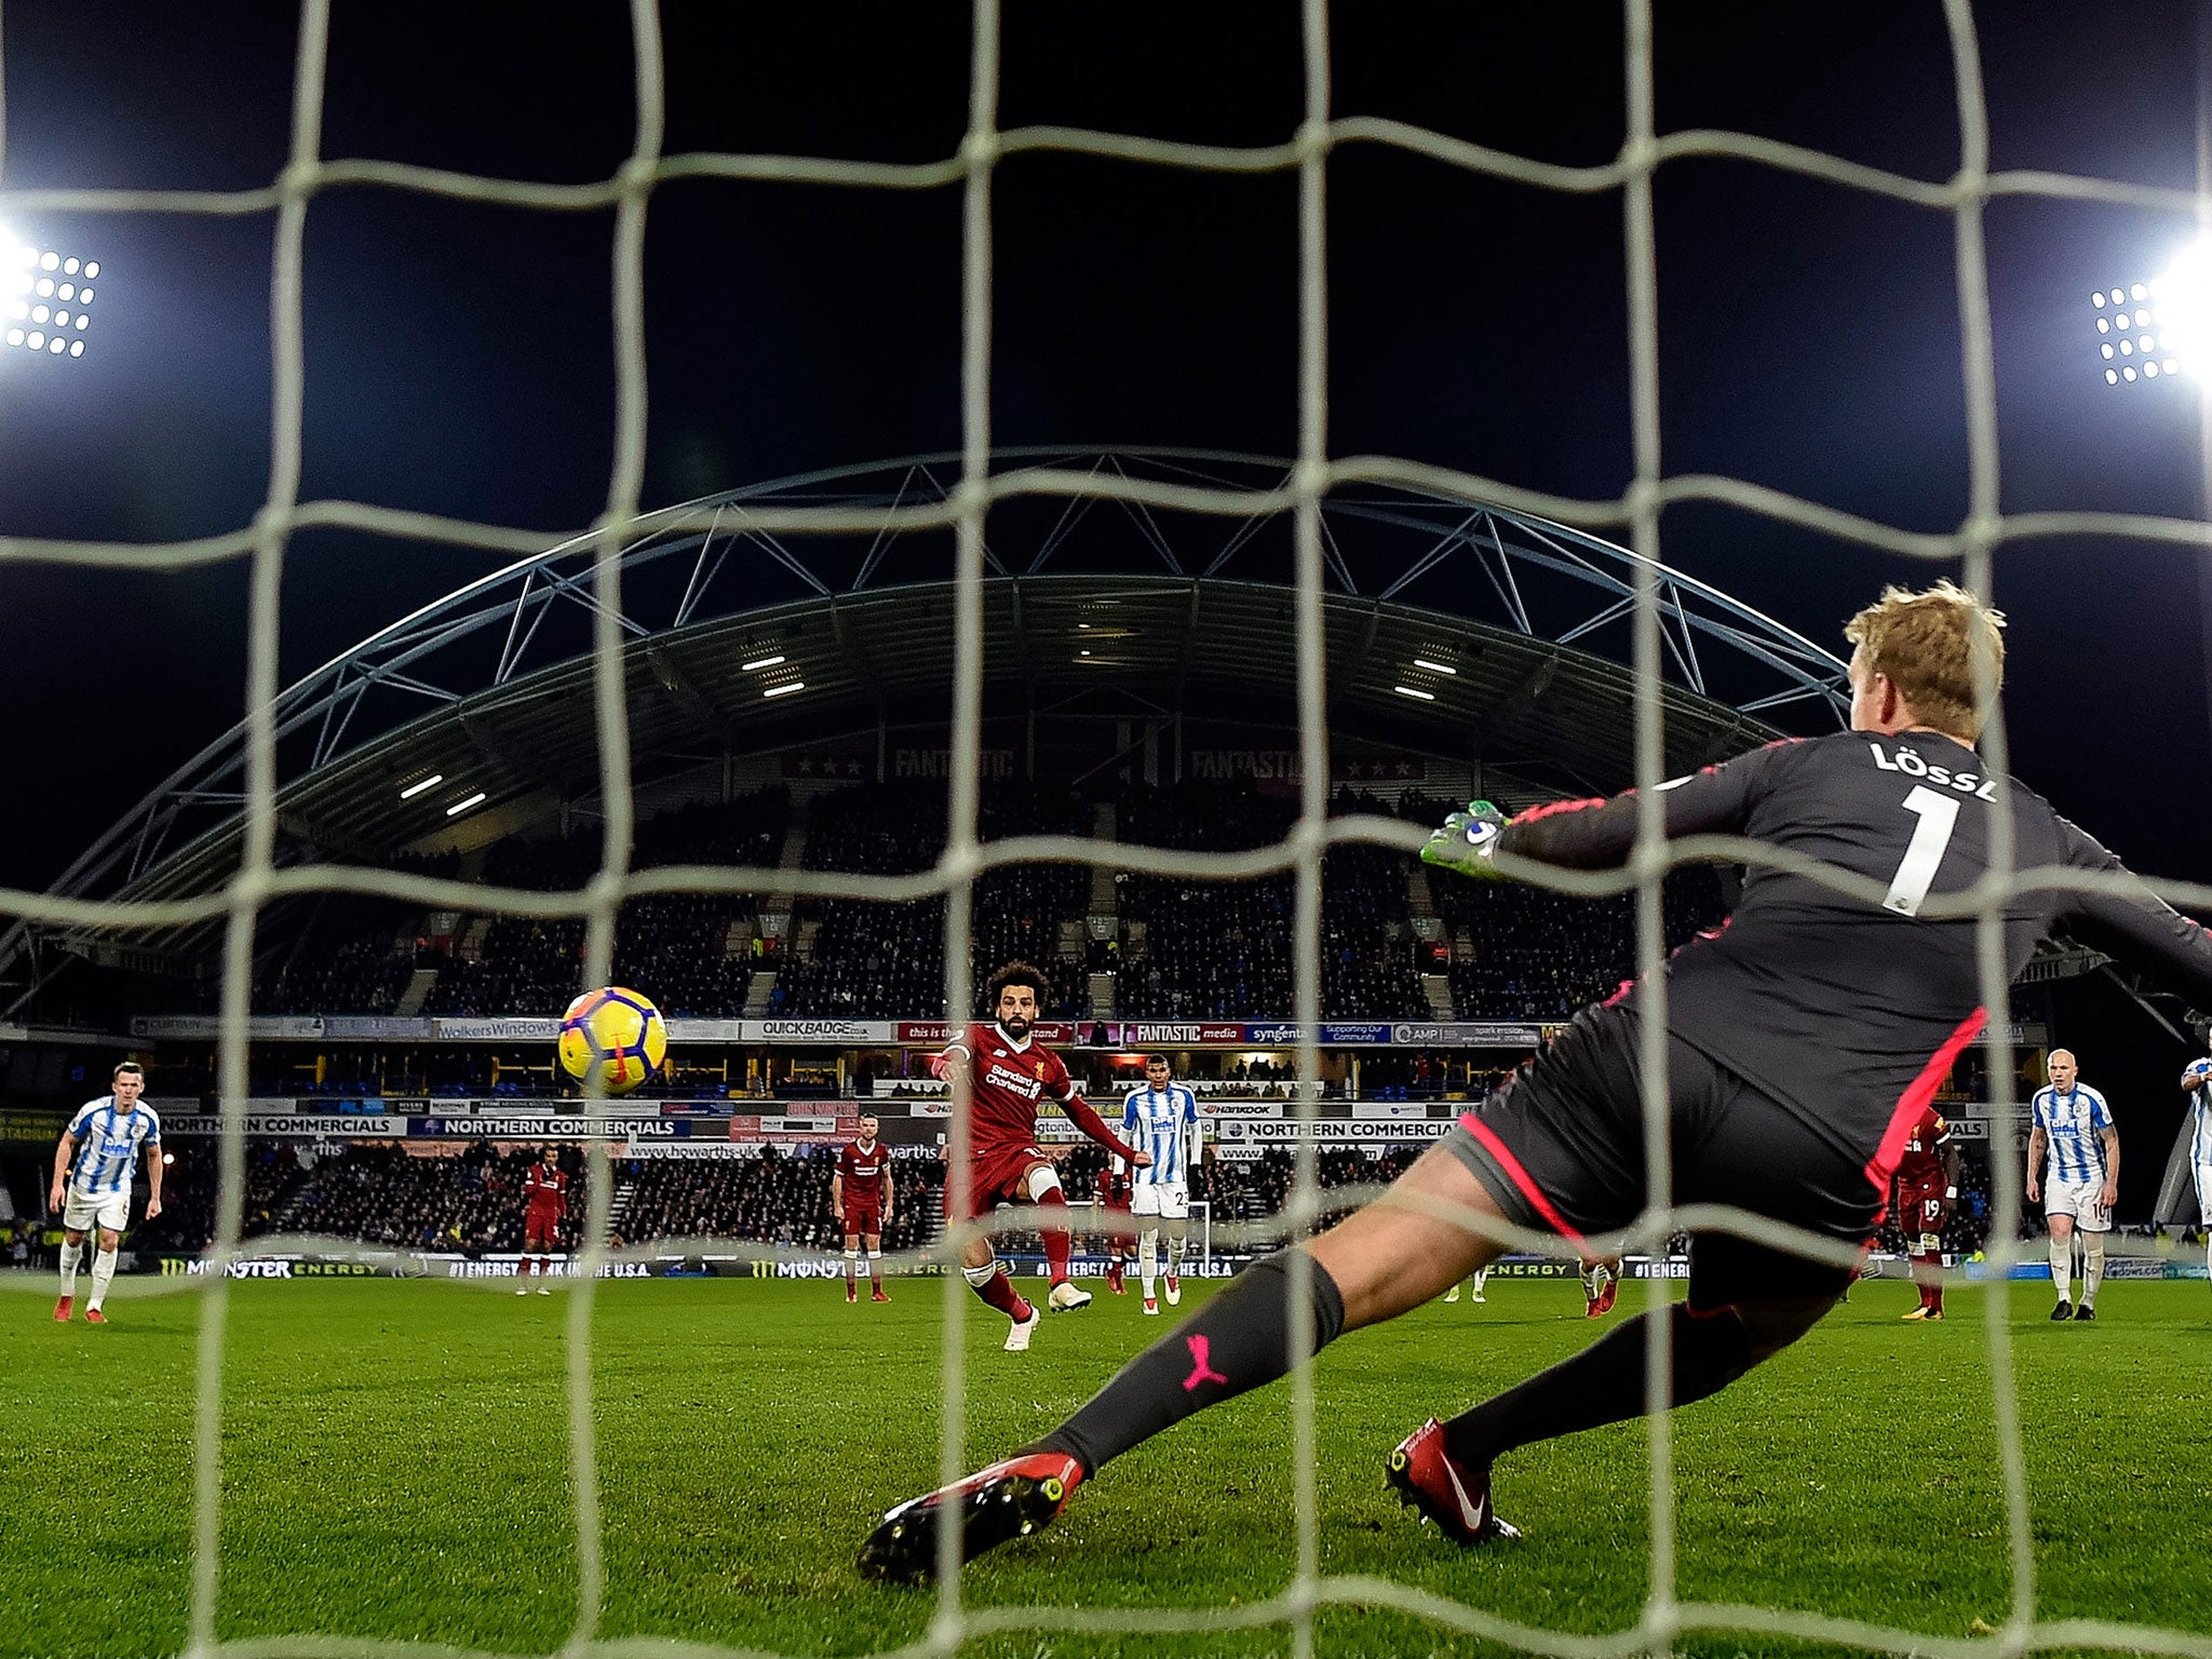
[[[170, 1281], [173, 1285], [175, 1281]], [[188, 1646], [197, 1292], [122, 1283], [113, 1323], [0, 1294], [0, 1655]], [[931, 1593], [863, 1584], [876, 1515], [936, 1484], [942, 1281], [847, 1307], [827, 1283], [604, 1283], [593, 1321], [604, 1639], [865, 1655], [927, 1637]], [[1203, 1290], [1194, 1292], [1203, 1294]], [[1942, 1325], [1867, 1283], [1805, 1343], [1674, 1418], [1679, 1595], [1980, 1635], [2011, 1606], [1980, 1290]], [[1641, 1305], [1621, 1294], [1617, 1323]], [[2112, 1283], [2097, 1325], [2011, 1290], [2042, 1617], [2212, 1632], [2212, 1292]], [[1646, 1436], [1524, 1451], [1498, 1504], [1526, 1531], [1460, 1553], [1400, 1511], [1383, 1455], [1593, 1338], [1573, 1281], [1493, 1283], [1334, 1345], [1316, 1369], [1321, 1571], [1599, 1635], [1648, 1577]], [[551, 1652], [575, 1626], [564, 1294], [453, 1283], [232, 1285], [217, 1635]], [[969, 1321], [969, 1453], [1079, 1405], [1166, 1321], [1099, 1296], [1026, 1356]], [[978, 1562], [969, 1606], [1230, 1608], [1294, 1571], [1290, 1389], [1219, 1407], [1115, 1462], [1057, 1526]], [[1697, 1655], [1816, 1652], [1692, 1632]], [[1285, 1626], [1181, 1635], [1000, 1630], [962, 1652], [1283, 1655]], [[1321, 1655], [1502, 1652], [1387, 1608], [1316, 1615]]]

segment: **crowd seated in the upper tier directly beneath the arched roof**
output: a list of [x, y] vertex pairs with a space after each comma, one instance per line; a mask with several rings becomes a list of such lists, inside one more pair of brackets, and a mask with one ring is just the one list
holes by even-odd
[[[1447, 801], [1385, 801], [1338, 790], [1332, 812], [1440, 821]], [[688, 805], [639, 825], [633, 867], [739, 863], [772, 867], [790, 825], [785, 790]], [[1152, 847], [1243, 852], [1279, 843], [1296, 818], [1287, 796], [1223, 783], [1119, 785], [1117, 838]], [[854, 783], [810, 803], [803, 865], [814, 872], [902, 876], [945, 847], [938, 781]], [[993, 781], [978, 803], [982, 838], [1093, 834], [1093, 805], [1068, 785]], [[599, 869], [597, 825], [564, 841], [502, 841], [482, 878], [507, 887], [577, 889]], [[456, 876], [458, 860], [414, 865]], [[1431, 878], [1429, 894], [1455, 945], [1418, 938], [1411, 856], [1376, 845], [1332, 847], [1321, 891], [1321, 1011], [1334, 1020], [1427, 1020], [1422, 973], [1447, 973], [1462, 1018], [1559, 1020], [1610, 995], [1635, 971], [1635, 898], [1571, 898], [1544, 887]], [[1117, 876], [1117, 927], [1091, 938], [1086, 865], [1020, 865], [975, 883], [973, 973], [982, 984], [1009, 958], [1053, 980], [1046, 1018], [1279, 1020], [1292, 1013], [1294, 876], [1243, 880]], [[774, 969], [768, 1013], [785, 1018], [900, 1018], [940, 1006], [945, 898], [867, 902], [801, 898], [803, 949], [752, 927], [757, 896], [635, 898], [617, 918], [613, 978], [653, 995], [670, 1015], [743, 1013], [752, 973]], [[1703, 867], [1666, 885], [1672, 949], [1723, 914]], [[425, 1013], [513, 1015], [560, 1011], [580, 989], [580, 918], [498, 918], [460, 938], [420, 938], [420, 911], [387, 900], [325, 900], [279, 971], [259, 989], [270, 1013], [389, 1013], [416, 967], [436, 967]], [[741, 927], [743, 925], [743, 927]], [[476, 940], [473, 933], [482, 938]], [[1082, 956], [1075, 956], [1082, 942]], [[1071, 951], [1062, 956], [1062, 951]], [[1447, 958], [1449, 960], [1442, 960]], [[1091, 1006], [1086, 973], [1115, 975], [1115, 1006]]]

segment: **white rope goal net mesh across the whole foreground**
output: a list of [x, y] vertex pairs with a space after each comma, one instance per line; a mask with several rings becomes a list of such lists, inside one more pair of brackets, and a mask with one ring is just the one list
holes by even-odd
[[[1845, 161], [1774, 139], [1725, 131], [1688, 131], [1659, 135], [1652, 113], [1652, 18], [1648, 0], [1626, 0], [1626, 106], [1628, 139], [1619, 157], [1606, 166], [1566, 168], [1506, 155], [1478, 144], [1444, 137], [1418, 126], [1387, 119], [1332, 119], [1329, 113], [1329, 18], [1325, 0], [1303, 0], [1305, 51], [1305, 119], [1285, 144], [1263, 148], [1219, 148], [1139, 139], [1117, 133], [1033, 126], [1000, 131], [998, 62], [1000, 15], [993, 0], [973, 9], [973, 60], [969, 93], [969, 128], [958, 155], [925, 166], [887, 166], [865, 161], [830, 161], [787, 155], [664, 155], [664, 60], [659, 15], [653, 0], [633, 0], [630, 29], [635, 42], [635, 146], [624, 166], [599, 184], [549, 186], [513, 179], [473, 177], [436, 168], [389, 161], [327, 161], [321, 157], [323, 77], [327, 46], [327, 0], [307, 0], [301, 15], [299, 58], [292, 95], [292, 153], [283, 173], [263, 190], [179, 192], [179, 190], [0, 190], [0, 208], [15, 212], [190, 212], [190, 215], [263, 215], [276, 217], [276, 254], [272, 283], [272, 467], [268, 500], [250, 526], [226, 535], [173, 544], [53, 542], [0, 538], [0, 562], [69, 562], [161, 571], [219, 560], [250, 560], [250, 657], [248, 657], [248, 745], [246, 745], [246, 838], [243, 858], [230, 883], [208, 896], [164, 902], [91, 902], [0, 889], [0, 914], [60, 927], [146, 927], [223, 918], [221, 1044], [219, 1093], [223, 1102], [221, 1199], [217, 1210], [215, 1259], [228, 1263], [241, 1254], [243, 1152], [246, 1152], [246, 1018], [252, 991], [252, 940], [263, 905], [296, 891], [358, 891], [403, 898], [420, 905], [467, 905], [478, 911], [513, 916], [586, 918], [586, 982], [602, 984], [613, 958], [615, 914], [624, 898], [666, 891], [799, 891], [845, 898], [900, 900], [925, 894], [947, 894], [947, 1018], [958, 1022], [973, 1000], [969, 982], [969, 945], [973, 933], [973, 880], [989, 867], [1035, 858], [1108, 863], [1126, 869], [1172, 874], [1186, 878], [1239, 878], [1270, 869], [1296, 872], [1296, 914], [1292, 922], [1296, 1004], [1303, 1042], [1298, 1071], [1303, 1082], [1298, 1113], [1314, 1115], [1318, 1077], [1318, 927], [1321, 927], [1321, 858], [1338, 841], [1369, 841], [1413, 849], [1420, 836], [1405, 825], [1380, 818], [1327, 816], [1327, 723], [1323, 688], [1323, 535], [1321, 500], [1349, 482], [1396, 482], [1416, 489], [1444, 491], [1493, 500], [1520, 511], [1544, 513], [1582, 526], [1628, 526], [1637, 566], [1635, 604], [1635, 752], [1637, 781], [1646, 803], [1635, 860], [1615, 876], [1575, 876], [1562, 872], [1526, 872], [1528, 878], [1573, 894], [1608, 894], [1637, 889], [1639, 896], [1639, 967], [1650, 987], [1655, 1018], [1644, 1022], [1646, 1121], [1650, 1194], [1646, 1217], [1630, 1230], [1632, 1241], [1659, 1243], [1686, 1225], [1705, 1225], [1750, 1239], [1778, 1243], [1803, 1254], [1836, 1261], [1856, 1259], [1807, 1232], [1781, 1228], [1745, 1212], [1672, 1210], [1668, 1139], [1663, 1128], [1663, 987], [1657, 971], [1663, 953], [1659, 883], [1668, 867], [1699, 858], [1732, 858], [1781, 869], [1794, 869], [1838, 891], [1878, 902], [1874, 883], [1845, 872], [1807, 863], [1781, 849], [1736, 838], [1703, 836], [1666, 843], [1652, 785], [1663, 776], [1661, 748], [1661, 630], [1657, 604], [1659, 520], [1677, 502], [1725, 502], [1743, 511], [1785, 520], [1840, 542], [1887, 549], [1916, 560], [1958, 560], [1966, 584], [1993, 595], [1993, 555], [2004, 542], [2048, 535], [2115, 535], [2148, 542], [2212, 542], [2212, 524], [2117, 515], [2117, 513], [2000, 513], [1997, 493], [1997, 427], [1995, 385], [1991, 367], [1989, 283], [1984, 270], [1982, 215], [1991, 199], [2004, 195], [2106, 201], [2135, 208], [2208, 219], [2203, 201], [2181, 190], [2084, 179], [2055, 173], [1991, 173], [1989, 122], [1980, 77], [1980, 49], [1969, 0], [1947, 0], [1944, 20], [1951, 38], [1955, 95], [1960, 113], [1960, 166], [1951, 179], [1927, 181]], [[1566, 192], [1619, 190], [1626, 206], [1628, 248], [1628, 316], [1632, 365], [1632, 436], [1635, 480], [1615, 500], [1568, 500], [1520, 489], [1504, 480], [1427, 467], [1394, 456], [1332, 458], [1327, 451], [1327, 334], [1325, 334], [1325, 246], [1327, 197], [1325, 168], [1332, 150], [1349, 144], [1385, 144], [1420, 153], [1478, 175], [1513, 179], [1526, 186]], [[1298, 458], [1287, 482], [1274, 491], [1208, 489], [1139, 480], [1108, 471], [1055, 471], [1051, 467], [993, 476], [991, 471], [991, 179], [993, 168], [1024, 150], [1066, 150], [1117, 157], [1166, 168], [1212, 168], [1232, 173], [1296, 170], [1298, 175]], [[1887, 195], [1891, 199], [1949, 212], [1955, 223], [1958, 305], [1964, 334], [1964, 387], [1971, 440], [1971, 491], [1964, 522], [1949, 535], [1929, 535], [1871, 522], [1765, 489], [1741, 478], [1674, 476], [1661, 465], [1659, 427], [1659, 316], [1655, 279], [1652, 177], [1668, 161], [1683, 157], [1736, 157], [1798, 173], [1832, 184]], [[4, 164], [4, 153], [0, 153]], [[0, 170], [4, 177], [4, 170]], [[841, 184], [858, 188], [927, 190], [958, 184], [964, 192], [964, 281], [962, 281], [962, 471], [958, 489], [942, 504], [889, 509], [774, 509], [752, 515], [752, 529], [763, 533], [834, 533], [885, 531], [951, 524], [958, 538], [958, 608], [951, 726], [951, 814], [942, 856], [933, 869], [907, 878], [860, 878], [792, 874], [732, 867], [666, 867], [648, 874], [628, 872], [628, 847], [635, 823], [630, 792], [628, 721], [622, 679], [622, 549], [639, 515], [639, 489], [646, 453], [646, 358], [644, 358], [644, 228], [653, 192], [670, 179], [757, 179]], [[595, 591], [595, 721], [599, 741], [599, 785], [606, 803], [604, 863], [580, 894], [533, 894], [520, 889], [462, 887], [392, 872], [299, 867], [276, 869], [276, 765], [272, 708], [276, 699], [276, 619], [279, 584], [285, 544], [294, 531], [345, 526], [392, 538], [447, 542], [456, 546], [535, 553], [544, 535], [500, 524], [478, 524], [403, 513], [367, 502], [299, 500], [301, 411], [303, 411], [303, 345], [301, 345], [301, 250], [307, 210], [314, 197], [334, 186], [374, 184], [398, 190], [445, 195], [467, 201], [493, 201], [538, 210], [615, 208], [613, 270], [613, 336], [617, 361], [617, 445], [608, 478], [606, 511], [593, 526], [597, 538]], [[978, 838], [978, 752], [982, 706], [982, 575], [984, 515], [991, 504], [1018, 493], [1097, 495], [1150, 507], [1252, 518], [1256, 513], [1294, 513], [1296, 524], [1296, 650], [1298, 714], [1303, 752], [1303, 812], [1290, 836], [1252, 854], [1194, 854], [1133, 849], [1082, 838], [1029, 836], [998, 841], [984, 847]], [[659, 529], [677, 529], [681, 520], [657, 518]], [[701, 520], [695, 529], [708, 529]], [[1986, 664], [1984, 664], [1986, 670]], [[1989, 677], [1984, 672], [1984, 692]], [[1984, 703], [1993, 697], [1984, 695]], [[1995, 712], [1995, 710], [1993, 710]], [[1991, 719], [1986, 734], [1991, 772], [2006, 772], [2002, 719]], [[1995, 856], [1989, 878], [1971, 891], [1931, 900], [1924, 916], [1980, 918], [1982, 1002], [1989, 1022], [1989, 1075], [2006, 1079], [2013, 1060], [2006, 1037], [2006, 973], [2002, 962], [2000, 914], [2008, 891], [2024, 887], [2095, 887], [2099, 878], [2070, 872], [2015, 872], [2008, 845], [2006, 814], [1993, 814]], [[2157, 883], [2177, 902], [2212, 905], [2212, 889]], [[2002, 1106], [2002, 1102], [2000, 1102]], [[967, 1183], [964, 1115], [953, 1117], [949, 1148], [947, 1210], [958, 1214]], [[2002, 1146], [2002, 1139], [1995, 1144]], [[1334, 1194], [1343, 1203], [1345, 1194]], [[1314, 1144], [1301, 1141], [1296, 1188], [1290, 1219], [1310, 1223], [1321, 1212], [1314, 1170]], [[1467, 1225], [1513, 1237], [1511, 1230], [1473, 1214]], [[2017, 1254], [2020, 1177], [2011, 1159], [1995, 1159], [1995, 1206], [1991, 1219], [1991, 1265], [1997, 1274]], [[568, 1451], [577, 1491], [577, 1624], [564, 1652], [739, 1652], [701, 1644], [664, 1639], [602, 1639], [604, 1557], [599, 1535], [597, 1453], [593, 1444], [593, 1369], [591, 1321], [597, 1267], [606, 1261], [608, 1181], [593, 1159], [586, 1241], [580, 1276], [568, 1303]], [[1535, 1243], [1535, 1241], [1531, 1241]], [[1303, 1252], [1292, 1256], [1305, 1272]], [[195, 1655], [458, 1655], [440, 1644], [394, 1644], [319, 1637], [312, 1632], [219, 1641], [219, 1495], [221, 1495], [221, 1398], [223, 1398], [223, 1332], [228, 1281], [217, 1270], [206, 1281], [206, 1303], [199, 1325], [199, 1374], [195, 1418], [195, 1522], [192, 1522], [192, 1599], [190, 1650]], [[962, 1327], [971, 1314], [969, 1296], [958, 1276], [945, 1281], [945, 1352], [942, 1352], [942, 1458], [947, 1480], [964, 1473], [964, 1407], [967, 1367]], [[1652, 1307], [1663, 1305], [1668, 1281], [1650, 1281]], [[2037, 1619], [2035, 1559], [2028, 1531], [2028, 1493], [2022, 1460], [2020, 1413], [2013, 1387], [2011, 1336], [2006, 1303], [1989, 1296], [1989, 1345], [1995, 1378], [1995, 1427], [2002, 1458], [2004, 1517], [2011, 1544], [2011, 1613], [1986, 1637], [1938, 1637], [1905, 1628], [1860, 1624], [1818, 1613], [1763, 1606], [1699, 1604], [1677, 1597], [1674, 1566], [1674, 1480], [1668, 1416], [1661, 1409], [1668, 1380], [1666, 1321], [1655, 1321], [1650, 1345], [1650, 1588], [1641, 1619], [1615, 1635], [1579, 1637], [1559, 1630], [1522, 1626], [1484, 1610], [1436, 1597], [1402, 1584], [1374, 1577], [1327, 1577], [1321, 1573], [1314, 1469], [1314, 1391], [1312, 1367], [1290, 1385], [1294, 1420], [1294, 1500], [1296, 1500], [1296, 1571], [1290, 1586], [1265, 1601], [1190, 1610], [1104, 1610], [1002, 1606], [967, 1608], [958, 1571], [947, 1571], [940, 1584], [938, 1617], [920, 1648], [951, 1652], [962, 1639], [1009, 1630], [1082, 1630], [1082, 1632], [1206, 1632], [1225, 1628], [1287, 1626], [1292, 1650], [1314, 1650], [1314, 1615], [1329, 1604], [1394, 1608], [1431, 1621], [1442, 1630], [1495, 1639], [1513, 1648], [1590, 1657], [1626, 1652], [1663, 1652], [1679, 1635], [1697, 1630], [1756, 1632], [1885, 1652], [1933, 1655], [2015, 1655], [2031, 1648], [2115, 1648], [2135, 1652], [2172, 1652], [2212, 1659], [2212, 1637], [2183, 1630], [2110, 1619]], [[1294, 1307], [1307, 1307], [1305, 1296], [1292, 1296]], [[1294, 1334], [1303, 1349], [1312, 1347], [1312, 1329]], [[947, 1531], [947, 1551], [951, 1533]], [[956, 1562], [947, 1553], [947, 1568]]]

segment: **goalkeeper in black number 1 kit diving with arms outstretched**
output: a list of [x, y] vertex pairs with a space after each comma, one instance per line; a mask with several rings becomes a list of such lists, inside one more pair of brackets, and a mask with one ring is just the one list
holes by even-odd
[[[1889, 588], [1845, 628], [1851, 730], [1776, 743], [1663, 785], [1670, 838], [1754, 836], [1871, 880], [1847, 898], [1752, 869], [1728, 927], [1666, 964], [1663, 1091], [1677, 1203], [1725, 1203], [1865, 1248], [1920, 1108], [1982, 1031], [1975, 920], [1929, 918], [1989, 867], [1995, 781], [1973, 743], [1973, 655], [2002, 675], [2002, 617], [1949, 582]], [[2066, 929], [2212, 1006], [2212, 936], [2128, 878], [2121, 863], [2013, 783], [2020, 869], [2115, 878], [2099, 891], [2024, 891], [2004, 905], [2004, 964]], [[1431, 836], [1422, 858], [1493, 880], [1515, 863], [1617, 869], [1637, 834], [1635, 792], [1533, 807], [1486, 805]], [[1442, 1210], [1473, 1210], [1584, 1239], [1644, 1210], [1644, 989], [1624, 984], [1429, 1150], [1376, 1203], [1250, 1267], [1130, 1360], [1086, 1407], [1018, 1455], [894, 1509], [860, 1553], [874, 1577], [936, 1566], [936, 1526], [962, 1517], [973, 1555], [1053, 1520], [1108, 1460], [1217, 1400], [1290, 1369], [1292, 1332], [1314, 1345], [1420, 1307], [1500, 1245]], [[1590, 1254], [1584, 1250], [1584, 1254]], [[1670, 1325], [1670, 1398], [1703, 1400], [1809, 1332], [1849, 1270], [1730, 1234], [1690, 1243], [1688, 1301]], [[1305, 1307], [1294, 1307], [1301, 1294]], [[1491, 1504], [1493, 1462], [1517, 1447], [1644, 1411], [1655, 1314], [1460, 1416], [1407, 1436], [1387, 1460], [1402, 1502], [1451, 1540], [1511, 1535]]]

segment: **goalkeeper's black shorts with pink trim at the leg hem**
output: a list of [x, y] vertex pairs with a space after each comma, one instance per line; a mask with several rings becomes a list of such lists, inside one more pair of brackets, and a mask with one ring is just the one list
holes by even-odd
[[[1506, 1219], [1562, 1234], [1626, 1228], [1644, 1210], [1641, 1020], [1584, 1009], [1544, 1053], [1444, 1137]], [[1887, 1190], [1854, 1150], [1816, 1133], [1681, 1037], [1668, 1037], [1674, 1206], [1725, 1203], [1849, 1245], [1874, 1237]], [[1885, 1183], [1887, 1186], [1887, 1183]], [[1584, 1254], [1593, 1254], [1584, 1250]], [[1690, 1241], [1690, 1305], [1838, 1296], [1849, 1267], [1723, 1232]]]

